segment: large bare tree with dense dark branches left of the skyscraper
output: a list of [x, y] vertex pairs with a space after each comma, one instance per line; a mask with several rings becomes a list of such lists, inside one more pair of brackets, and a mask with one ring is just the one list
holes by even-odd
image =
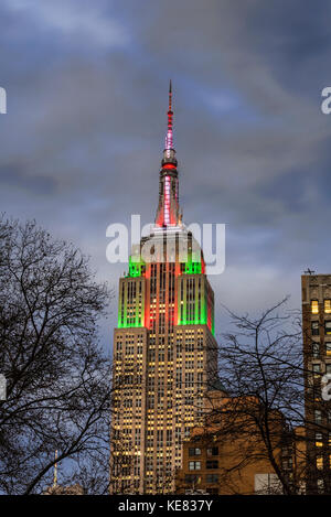
[[108, 301], [73, 245], [0, 218], [0, 492], [42, 492], [55, 450], [68, 466], [108, 454], [111, 368], [97, 338]]

